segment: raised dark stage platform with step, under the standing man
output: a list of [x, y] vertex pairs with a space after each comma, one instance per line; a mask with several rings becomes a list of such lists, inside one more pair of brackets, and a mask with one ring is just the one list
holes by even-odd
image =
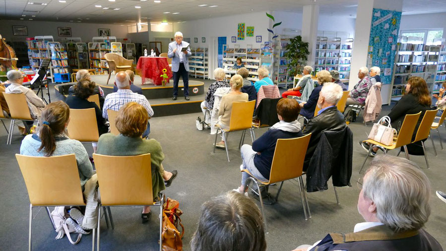
[[[107, 85], [108, 75], [91, 75], [91, 80], [96, 82], [104, 90], [104, 94], [108, 95], [113, 92], [115, 82], [115, 75], [110, 77]], [[67, 96], [68, 87], [75, 84], [75, 82], [58, 84], [55, 86], [56, 95], [59, 99], [65, 100]], [[200, 103], [204, 101], [204, 82], [189, 80], [189, 98], [184, 98], [184, 85], [180, 80], [178, 88], [178, 99], [172, 100], [173, 80], [170, 80], [166, 86], [156, 86], [153, 84], [141, 84], [141, 77], [135, 76], [134, 84], [141, 87], [142, 94], [149, 100], [152, 106], [153, 117], [171, 116], [179, 114], [197, 113], [200, 112]]]

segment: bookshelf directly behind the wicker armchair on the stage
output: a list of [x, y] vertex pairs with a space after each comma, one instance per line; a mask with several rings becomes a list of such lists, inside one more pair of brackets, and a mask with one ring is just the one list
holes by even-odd
[[93, 42], [88, 43], [88, 56], [90, 68], [97, 73], [108, 74], [109, 66], [104, 56], [111, 53], [111, 42], [116, 42], [116, 37], [93, 37]]

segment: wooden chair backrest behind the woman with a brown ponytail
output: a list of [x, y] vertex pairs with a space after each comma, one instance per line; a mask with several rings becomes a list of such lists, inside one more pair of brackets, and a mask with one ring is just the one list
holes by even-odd
[[16, 154], [15, 157], [31, 204], [85, 205], [74, 154], [54, 157]]

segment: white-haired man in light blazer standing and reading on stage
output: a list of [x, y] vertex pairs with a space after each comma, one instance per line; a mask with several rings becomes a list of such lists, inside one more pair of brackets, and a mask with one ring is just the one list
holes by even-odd
[[[183, 47], [188, 47], [184, 52], [181, 51]], [[184, 83], [184, 98], [189, 100], [189, 57], [192, 56], [189, 43], [183, 41], [183, 33], [177, 31], [175, 33], [175, 41], [169, 44], [169, 51], [167, 57], [172, 59], [172, 71], [174, 73], [174, 93], [173, 100], [177, 100], [178, 96], [178, 82], [180, 76], [183, 77]]]

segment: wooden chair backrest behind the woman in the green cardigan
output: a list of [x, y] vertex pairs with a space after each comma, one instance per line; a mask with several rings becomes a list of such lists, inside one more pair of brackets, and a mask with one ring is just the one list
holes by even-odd
[[153, 204], [149, 153], [136, 156], [93, 154], [93, 159], [102, 205]]

